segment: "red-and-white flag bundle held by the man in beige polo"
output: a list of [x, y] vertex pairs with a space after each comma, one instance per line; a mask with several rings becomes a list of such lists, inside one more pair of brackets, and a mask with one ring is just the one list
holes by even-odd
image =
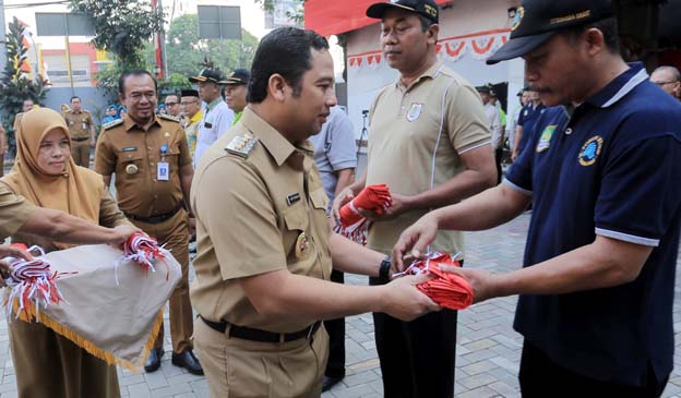
[[366, 245], [367, 232], [371, 226], [371, 220], [365, 218], [358, 208], [381, 215], [392, 203], [393, 198], [386, 184], [368, 185], [357, 197], [340, 207], [340, 222], [334, 231], [354, 242]]

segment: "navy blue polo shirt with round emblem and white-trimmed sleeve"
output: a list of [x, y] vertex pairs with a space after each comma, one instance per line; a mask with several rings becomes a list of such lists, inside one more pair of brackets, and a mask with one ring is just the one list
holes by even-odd
[[[681, 105], [641, 63], [573, 110], [549, 108], [504, 182], [533, 197], [524, 266], [596, 234], [653, 248], [618, 287], [521, 296], [514, 327], [554, 362], [643, 386], [672, 370], [672, 304], [681, 215]], [[650, 366], [650, 367], [649, 367]]]

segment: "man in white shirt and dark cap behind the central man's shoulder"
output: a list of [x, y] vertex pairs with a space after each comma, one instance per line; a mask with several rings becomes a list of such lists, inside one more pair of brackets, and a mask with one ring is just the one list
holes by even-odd
[[229, 130], [235, 114], [220, 95], [222, 86], [227, 82], [223, 80], [218, 70], [204, 69], [198, 76], [189, 77], [189, 81], [199, 85], [199, 95], [206, 104], [203, 119], [199, 124], [199, 136], [194, 150], [193, 162], [194, 167], [198, 167], [203, 152]]

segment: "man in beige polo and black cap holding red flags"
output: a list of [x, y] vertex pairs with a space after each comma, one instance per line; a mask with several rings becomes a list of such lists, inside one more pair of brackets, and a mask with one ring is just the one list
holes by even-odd
[[[365, 212], [374, 220], [367, 245], [385, 254], [430, 209], [459, 202], [497, 180], [480, 97], [438, 61], [439, 12], [433, 0], [393, 0], [367, 10], [368, 16], [381, 19], [384, 59], [399, 79], [375, 96], [367, 172], [338, 193], [334, 213], [366, 185], [387, 184], [391, 207], [383, 215]], [[433, 250], [463, 252], [462, 233], [438, 238]], [[443, 310], [409, 323], [373, 316], [385, 396], [453, 397], [456, 312]]]

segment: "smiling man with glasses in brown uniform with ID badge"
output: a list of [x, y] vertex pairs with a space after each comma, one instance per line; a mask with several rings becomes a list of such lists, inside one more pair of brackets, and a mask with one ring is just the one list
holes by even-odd
[[[165, 244], [182, 266], [182, 279], [170, 297], [172, 364], [203, 374], [192, 352], [189, 300], [189, 221], [184, 200], [193, 176], [184, 130], [172, 117], [156, 116], [156, 83], [146, 71], [121, 77], [119, 98], [128, 114], [108, 123], [97, 143], [95, 171], [108, 185], [116, 172], [118, 205], [148, 236]], [[145, 365], [160, 366], [163, 327]]]

